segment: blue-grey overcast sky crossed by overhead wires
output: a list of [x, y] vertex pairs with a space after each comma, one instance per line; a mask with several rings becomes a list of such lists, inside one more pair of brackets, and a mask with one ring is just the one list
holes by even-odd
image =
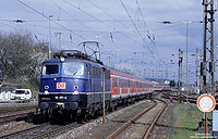
[[[186, 24], [183, 22], [192, 22], [187, 25], [189, 54], [195, 53], [196, 48], [203, 49], [201, 0], [1, 0], [0, 13], [3, 34], [27, 30], [36, 40], [45, 42], [50, 39], [49, 15], [52, 15], [53, 49], [58, 49], [57, 33], [61, 33], [61, 49], [80, 49], [77, 45], [82, 41], [97, 40], [104, 45], [105, 63], [111, 56], [112, 64], [131, 64], [134, 72], [144, 71], [146, 77], [178, 76], [179, 48], [184, 51], [184, 61], [186, 54]], [[217, 20], [217, 14], [215, 17]], [[24, 22], [13, 22], [16, 20]], [[189, 58], [194, 72], [195, 58]]]

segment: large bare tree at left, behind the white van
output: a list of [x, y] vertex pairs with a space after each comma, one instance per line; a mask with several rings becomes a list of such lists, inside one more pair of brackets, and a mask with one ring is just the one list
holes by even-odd
[[38, 77], [40, 64], [48, 49], [36, 42], [29, 33], [0, 35], [0, 62], [3, 78], [22, 79]]

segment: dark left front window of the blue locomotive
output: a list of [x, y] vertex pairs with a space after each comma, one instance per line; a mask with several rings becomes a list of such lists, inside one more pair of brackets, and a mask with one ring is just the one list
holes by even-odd
[[43, 75], [56, 75], [59, 73], [58, 64], [45, 64], [43, 67]]

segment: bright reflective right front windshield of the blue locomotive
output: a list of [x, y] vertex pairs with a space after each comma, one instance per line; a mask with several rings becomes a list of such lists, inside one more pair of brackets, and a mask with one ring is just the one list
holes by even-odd
[[65, 63], [63, 71], [65, 75], [83, 75], [84, 65], [80, 63]]

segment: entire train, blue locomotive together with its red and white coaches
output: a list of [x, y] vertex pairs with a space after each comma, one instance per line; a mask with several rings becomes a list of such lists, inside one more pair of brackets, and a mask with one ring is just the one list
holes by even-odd
[[[152, 81], [105, 66], [76, 50], [62, 50], [43, 63], [38, 108], [50, 118], [92, 118], [106, 110], [150, 97]], [[105, 75], [105, 76], [104, 76]]]

